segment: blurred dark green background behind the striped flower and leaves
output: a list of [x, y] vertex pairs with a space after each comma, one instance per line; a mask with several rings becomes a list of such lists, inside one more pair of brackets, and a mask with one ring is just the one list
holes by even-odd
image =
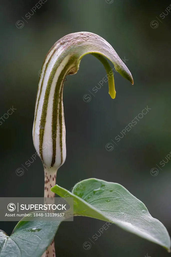
[[[91, 177], [120, 183], [142, 200], [171, 234], [171, 161], [163, 168], [159, 164], [171, 151], [171, 13], [164, 19], [159, 16], [167, 14], [171, 2], [48, 0], [27, 20], [25, 15], [32, 13], [37, 2], [1, 1], [0, 117], [12, 106], [17, 110], [0, 126], [0, 196], [43, 197], [44, 171], [38, 157], [24, 169], [23, 176], [16, 175], [16, 169], [23, 168], [35, 153], [32, 126], [38, 71], [58, 39], [89, 31], [105, 38], [121, 59], [127, 59], [134, 85], [115, 72], [116, 98], [110, 98], [107, 83], [93, 96], [89, 90], [93, 92], [106, 72], [91, 55], [82, 59], [76, 75], [67, 76], [63, 96], [67, 158], [58, 170], [57, 184], [69, 190], [79, 180]], [[16, 27], [18, 20], [24, 27]], [[153, 20], [158, 24], [153, 22], [151, 27]], [[90, 102], [84, 102], [85, 94], [91, 95]], [[149, 112], [118, 146], [113, 143], [114, 149], [107, 151], [106, 144], [115, 141], [147, 106]], [[150, 170], [157, 168], [156, 164], [162, 170], [158, 168], [158, 175], [152, 176]], [[0, 228], [10, 234], [15, 224], [0, 222]], [[168, 256], [162, 247], [115, 225], [104, 231], [90, 250], [84, 250], [83, 243], [103, 225], [83, 217], [62, 223], [55, 237], [57, 256]]]

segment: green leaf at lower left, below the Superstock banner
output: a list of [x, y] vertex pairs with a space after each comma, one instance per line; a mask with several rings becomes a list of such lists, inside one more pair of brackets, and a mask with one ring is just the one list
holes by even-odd
[[1, 257], [40, 257], [51, 244], [60, 221], [24, 221], [16, 225], [11, 236], [0, 231]]

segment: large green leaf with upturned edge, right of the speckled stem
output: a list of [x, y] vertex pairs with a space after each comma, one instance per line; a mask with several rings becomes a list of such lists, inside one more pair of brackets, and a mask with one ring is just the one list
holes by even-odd
[[165, 226], [153, 218], [146, 206], [123, 186], [100, 179], [77, 183], [72, 193], [55, 185], [51, 191], [74, 198], [74, 214], [115, 223], [170, 252], [170, 237]]

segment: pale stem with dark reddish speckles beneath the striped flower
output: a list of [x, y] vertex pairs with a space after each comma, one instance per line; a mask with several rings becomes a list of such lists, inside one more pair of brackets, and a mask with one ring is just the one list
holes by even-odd
[[[55, 203], [55, 194], [51, 191], [51, 187], [55, 186], [56, 184], [56, 173], [57, 170], [52, 170], [50, 168], [45, 168], [45, 187], [44, 187], [44, 197], [45, 197], [45, 204], [46, 204], [46, 198], [51, 198], [52, 203]], [[49, 204], [49, 202], [48, 202]], [[48, 249], [44, 252], [42, 257], [55, 257], [55, 244], [54, 240], [49, 245]]]

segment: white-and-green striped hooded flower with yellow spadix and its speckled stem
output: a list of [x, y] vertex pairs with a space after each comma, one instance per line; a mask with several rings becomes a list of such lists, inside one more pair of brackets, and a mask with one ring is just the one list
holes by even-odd
[[[56, 172], [65, 162], [65, 122], [63, 110], [63, 85], [66, 75], [75, 74], [82, 57], [92, 54], [104, 65], [108, 74], [109, 94], [115, 98], [115, 86], [110, 60], [116, 71], [133, 84], [128, 68], [113, 47], [100, 36], [90, 32], [77, 32], [58, 40], [45, 57], [38, 85], [33, 142], [45, 171], [45, 197], [54, 197]], [[54, 242], [44, 256], [55, 256]]]

